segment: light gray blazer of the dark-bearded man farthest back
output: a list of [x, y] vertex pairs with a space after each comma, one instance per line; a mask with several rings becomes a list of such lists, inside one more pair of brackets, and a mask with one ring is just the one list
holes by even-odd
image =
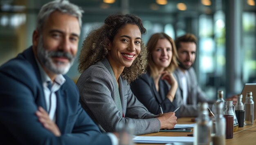
[[184, 104], [182, 101], [183, 89], [182, 89], [182, 84], [179, 77], [179, 72], [177, 69], [173, 72], [173, 76], [176, 78], [178, 82], [178, 88], [176, 91], [175, 98], [180, 100], [180, 101], [177, 101], [178, 103], [180, 103], [180, 104], [177, 104], [177, 106], [180, 106], [180, 109], [179, 109], [180, 117], [195, 117], [195, 116], [198, 116], [198, 112], [197, 112], [198, 102], [207, 102], [207, 98], [204, 92], [202, 91], [202, 89], [200, 88], [200, 86], [198, 85], [197, 77], [193, 67], [191, 67], [187, 71], [188, 71], [188, 75], [186, 75], [186, 80], [188, 84], [187, 104]]

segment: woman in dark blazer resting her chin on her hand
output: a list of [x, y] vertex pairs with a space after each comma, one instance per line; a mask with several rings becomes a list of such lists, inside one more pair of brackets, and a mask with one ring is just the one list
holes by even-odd
[[148, 40], [147, 73], [132, 82], [132, 92], [153, 114], [177, 108], [177, 81], [172, 72], [177, 68], [175, 42], [166, 33], [155, 33]]

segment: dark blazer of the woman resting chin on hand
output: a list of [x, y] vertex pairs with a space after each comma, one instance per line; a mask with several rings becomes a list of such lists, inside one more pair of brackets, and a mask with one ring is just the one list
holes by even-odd
[[160, 113], [159, 104], [164, 113], [174, 111], [177, 108], [177, 103], [175, 103], [177, 101], [176, 99], [171, 102], [166, 98], [170, 88], [171, 86], [165, 80], [160, 79], [159, 91], [157, 92], [154, 80], [149, 72], [143, 74], [131, 83], [133, 94], [135, 94], [138, 100], [153, 114]]

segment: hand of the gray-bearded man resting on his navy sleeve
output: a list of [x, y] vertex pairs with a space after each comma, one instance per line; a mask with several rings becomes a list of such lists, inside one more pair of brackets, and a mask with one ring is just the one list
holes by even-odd
[[49, 118], [47, 112], [42, 108], [38, 107], [38, 111], [36, 112], [36, 116], [42, 125], [52, 132], [55, 136], [61, 136], [61, 132], [58, 129], [58, 126]]

